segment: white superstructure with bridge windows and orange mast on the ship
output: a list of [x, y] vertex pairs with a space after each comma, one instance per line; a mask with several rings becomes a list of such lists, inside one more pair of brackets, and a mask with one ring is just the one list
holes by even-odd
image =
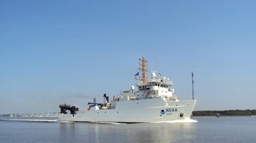
[[[179, 101], [179, 98], [174, 95], [173, 80], [163, 77], [161, 79], [161, 74], [157, 74], [155, 71], [151, 73], [151, 78], [147, 75], [145, 68], [147, 65], [147, 60], [145, 58], [139, 59], [139, 65], [141, 67], [139, 70], [142, 72], [142, 77], [135, 78], [137, 80], [136, 92], [134, 91], [134, 86], [131, 86], [129, 91], [121, 91], [121, 100], [140, 100], [140, 99], [151, 99], [151, 98], [163, 98], [164, 101]], [[146, 75], [148, 77], [146, 77]]]

